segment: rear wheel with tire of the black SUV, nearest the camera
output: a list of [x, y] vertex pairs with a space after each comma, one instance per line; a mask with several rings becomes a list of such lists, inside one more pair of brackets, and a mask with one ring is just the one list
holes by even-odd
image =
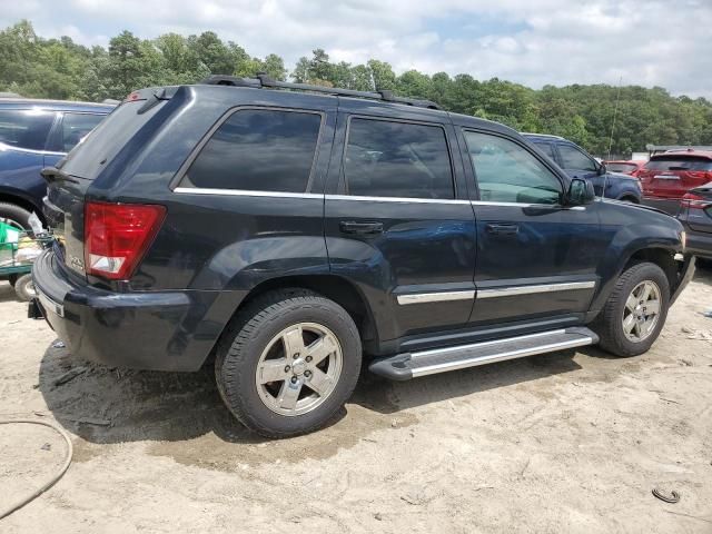
[[228, 409], [265, 437], [324, 426], [360, 372], [358, 329], [338, 304], [304, 289], [257, 297], [218, 344], [215, 374]]

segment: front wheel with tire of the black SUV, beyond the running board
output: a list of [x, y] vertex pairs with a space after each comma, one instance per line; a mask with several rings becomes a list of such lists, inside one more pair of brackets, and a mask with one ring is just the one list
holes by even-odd
[[665, 325], [670, 283], [655, 264], [629, 267], [617, 279], [592, 325], [599, 345], [615, 356], [637, 356], [650, 349]]

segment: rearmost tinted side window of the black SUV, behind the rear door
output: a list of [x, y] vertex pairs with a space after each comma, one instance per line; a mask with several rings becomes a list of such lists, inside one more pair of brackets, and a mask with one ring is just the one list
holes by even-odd
[[322, 116], [243, 109], [220, 125], [190, 165], [182, 187], [304, 192]]

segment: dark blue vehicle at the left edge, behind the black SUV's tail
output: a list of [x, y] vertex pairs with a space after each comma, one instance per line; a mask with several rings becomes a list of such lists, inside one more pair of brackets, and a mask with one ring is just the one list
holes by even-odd
[[29, 229], [40, 217], [47, 182], [42, 167], [55, 165], [115, 106], [0, 98], [0, 220]]

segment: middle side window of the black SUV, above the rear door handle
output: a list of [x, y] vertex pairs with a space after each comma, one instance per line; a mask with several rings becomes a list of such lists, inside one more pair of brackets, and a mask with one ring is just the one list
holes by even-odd
[[348, 195], [454, 198], [447, 140], [438, 126], [352, 119], [344, 174]]

